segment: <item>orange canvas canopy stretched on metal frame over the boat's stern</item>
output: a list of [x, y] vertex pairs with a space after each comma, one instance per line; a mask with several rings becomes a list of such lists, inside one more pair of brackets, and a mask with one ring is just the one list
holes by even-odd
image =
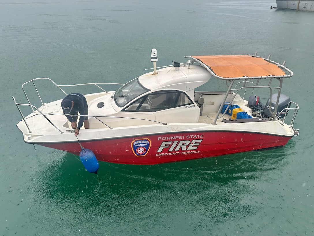
[[209, 66], [217, 76], [231, 78], [243, 76], [284, 76], [277, 65], [263, 58], [249, 55], [192, 56]]

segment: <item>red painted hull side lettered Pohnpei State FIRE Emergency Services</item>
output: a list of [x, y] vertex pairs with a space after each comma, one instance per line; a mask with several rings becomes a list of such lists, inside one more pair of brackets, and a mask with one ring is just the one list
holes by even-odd
[[[178, 132], [81, 142], [100, 161], [152, 165], [284, 146], [293, 136], [254, 132]], [[78, 155], [78, 142], [37, 143]]]

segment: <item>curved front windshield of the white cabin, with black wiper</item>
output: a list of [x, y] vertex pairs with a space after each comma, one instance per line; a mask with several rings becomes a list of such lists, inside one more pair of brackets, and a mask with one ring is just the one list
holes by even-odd
[[130, 82], [119, 88], [115, 95], [115, 102], [119, 107], [125, 106], [129, 101], [138, 97], [139, 95], [146, 93], [149, 89], [144, 88], [139, 82], [138, 78], [131, 80]]

